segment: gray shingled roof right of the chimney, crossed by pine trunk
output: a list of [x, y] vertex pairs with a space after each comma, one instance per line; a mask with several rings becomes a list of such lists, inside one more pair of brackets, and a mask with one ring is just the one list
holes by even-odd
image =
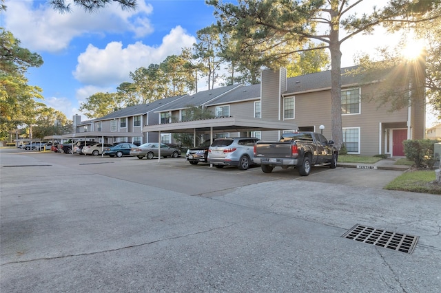
[[[366, 83], [366, 80], [361, 75], [349, 75], [347, 72], [356, 69], [357, 66], [342, 68], [342, 87], [349, 85], [357, 85]], [[286, 94], [296, 94], [302, 91], [317, 91], [320, 89], [331, 88], [331, 71], [317, 72], [314, 74], [305, 74], [302, 76], [291, 77], [287, 79]]]

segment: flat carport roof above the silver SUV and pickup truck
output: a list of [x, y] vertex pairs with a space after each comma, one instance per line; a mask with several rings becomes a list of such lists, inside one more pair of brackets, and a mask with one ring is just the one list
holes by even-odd
[[170, 133], [210, 133], [213, 132], [240, 132], [240, 131], [269, 131], [269, 130], [296, 130], [294, 122], [278, 120], [263, 120], [258, 118], [245, 119], [223, 117], [186, 122], [146, 125], [143, 132], [170, 132]]

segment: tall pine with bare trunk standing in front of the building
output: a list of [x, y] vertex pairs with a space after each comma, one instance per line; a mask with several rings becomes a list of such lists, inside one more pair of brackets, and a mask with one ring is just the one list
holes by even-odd
[[[381, 9], [356, 14], [363, 0], [238, 0], [238, 4], [207, 0], [214, 6], [218, 25], [233, 38], [260, 54], [268, 67], [280, 65], [279, 59], [296, 54], [298, 44], [307, 40], [325, 43], [331, 56], [332, 138], [342, 146], [341, 57], [340, 45], [356, 34], [369, 33], [377, 25], [393, 25], [427, 21], [439, 1], [390, 0]], [[322, 28], [325, 31], [322, 32]], [[319, 30], [320, 29], [320, 30]], [[340, 37], [340, 29], [347, 34]]]

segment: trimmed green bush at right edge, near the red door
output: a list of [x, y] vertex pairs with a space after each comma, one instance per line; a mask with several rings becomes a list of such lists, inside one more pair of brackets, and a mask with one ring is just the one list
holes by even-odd
[[435, 164], [433, 147], [438, 140], [404, 140], [404, 155], [418, 168], [432, 168]]

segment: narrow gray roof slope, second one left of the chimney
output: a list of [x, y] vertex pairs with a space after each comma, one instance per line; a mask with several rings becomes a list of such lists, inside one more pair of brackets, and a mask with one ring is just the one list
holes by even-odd
[[186, 109], [189, 106], [201, 106], [206, 103], [223, 96], [227, 92], [235, 89], [236, 87], [242, 87], [242, 85], [227, 85], [226, 87], [218, 87], [216, 89], [208, 89], [207, 91], [199, 91], [196, 94], [191, 96], [185, 96], [175, 102], [165, 105], [163, 107], [159, 107], [156, 109], [156, 112], [164, 112], [164, 111], [173, 111]]

